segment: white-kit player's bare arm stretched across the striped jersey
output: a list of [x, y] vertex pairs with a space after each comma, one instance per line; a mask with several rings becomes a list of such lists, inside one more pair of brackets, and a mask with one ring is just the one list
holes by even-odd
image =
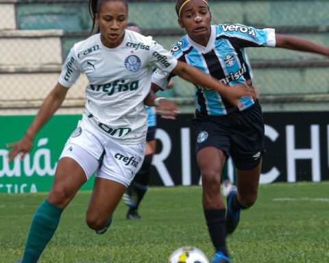
[[218, 79], [210, 77], [202, 73], [202, 71], [199, 71], [197, 68], [184, 62], [178, 61], [177, 66], [173, 69], [173, 73], [195, 85], [205, 86], [212, 90], [216, 90], [233, 105], [239, 105], [239, 99], [241, 97], [253, 97], [256, 99], [256, 92], [253, 87], [248, 87], [246, 84], [226, 86], [219, 82]]

